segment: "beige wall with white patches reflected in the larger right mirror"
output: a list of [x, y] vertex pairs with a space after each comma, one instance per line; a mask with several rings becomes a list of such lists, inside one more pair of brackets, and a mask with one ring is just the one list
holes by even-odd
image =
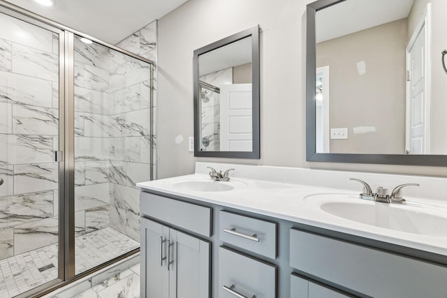
[[[330, 128], [348, 128], [347, 140], [330, 140], [331, 153], [404, 154], [405, 48], [406, 19], [316, 45], [316, 67], [330, 66]], [[376, 131], [353, 133], [361, 126]]]

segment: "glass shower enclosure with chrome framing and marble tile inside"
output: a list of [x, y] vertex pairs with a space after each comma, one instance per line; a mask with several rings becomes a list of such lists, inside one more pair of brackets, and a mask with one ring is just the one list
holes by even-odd
[[28, 297], [138, 252], [153, 63], [10, 8], [0, 3], [0, 297]]

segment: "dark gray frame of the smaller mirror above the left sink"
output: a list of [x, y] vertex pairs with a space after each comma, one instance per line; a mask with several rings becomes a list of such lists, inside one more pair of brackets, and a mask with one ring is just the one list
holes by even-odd
[[[198, 57], [224, 45], [251, 36], [251, 72], [252, 72], [252, 151], [200, 151], [200, 98]], [[194, 156], [223, 158], [260, 158], [260, 121], [259, 121], [259, 26], [235, 33], [194, 51], [193, 57], [193, 88], [194, 88]]]

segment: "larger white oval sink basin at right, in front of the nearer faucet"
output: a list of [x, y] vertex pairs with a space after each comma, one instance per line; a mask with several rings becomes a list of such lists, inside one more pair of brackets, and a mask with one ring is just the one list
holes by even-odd
[[307, 197], [328, 214], [379, 228], [447, 238], [446, 211], [423, 204], [386, 204], [360, 200], [355, 195], [321, 194]]

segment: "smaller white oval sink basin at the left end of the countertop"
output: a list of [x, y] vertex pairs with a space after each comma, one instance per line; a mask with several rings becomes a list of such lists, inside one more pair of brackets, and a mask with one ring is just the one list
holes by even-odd
[[247, 184], [241, 181], [186, 180], [178, 181], [171, 186], [178, 191], [233, 191], [235, 188], [245, 188]]

